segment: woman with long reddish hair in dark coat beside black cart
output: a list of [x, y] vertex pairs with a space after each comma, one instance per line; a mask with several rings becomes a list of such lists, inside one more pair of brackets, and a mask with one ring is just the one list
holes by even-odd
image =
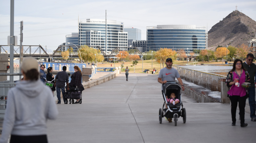
[[[82, 85], [82, 71], [78, 66], [74, 66], [74, 73], [71, 75], [71, 81], [69, 83], [70, 89], [75, 89], [75, 87], [81, 87]], [[79, 103], [79, 99], [75, 103]]]

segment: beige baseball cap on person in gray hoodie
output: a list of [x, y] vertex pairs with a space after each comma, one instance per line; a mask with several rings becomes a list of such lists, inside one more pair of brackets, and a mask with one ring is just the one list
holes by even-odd
[[37, 71], [39, 71], [38, 62], [33, 57], [26, 57], [26, 58], [24, 58], [24, 60], [21, 64], [21, 69], [24, 72], [27, 72], [32, 69], [36, 69]]

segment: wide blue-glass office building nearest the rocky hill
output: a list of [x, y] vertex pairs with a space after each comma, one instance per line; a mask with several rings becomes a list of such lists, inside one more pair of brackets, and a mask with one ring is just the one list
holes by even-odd
[[160, 48], [173, 50], [208, 48], [208, 32], [206, 26], [196, 25], [157, 25], [147, 26], [146, 51], [157, 51]]

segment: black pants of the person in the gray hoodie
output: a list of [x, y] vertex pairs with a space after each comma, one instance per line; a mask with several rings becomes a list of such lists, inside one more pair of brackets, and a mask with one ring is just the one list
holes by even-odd
[[48, 143], [47, 135], [11, 135], [10, 143]]

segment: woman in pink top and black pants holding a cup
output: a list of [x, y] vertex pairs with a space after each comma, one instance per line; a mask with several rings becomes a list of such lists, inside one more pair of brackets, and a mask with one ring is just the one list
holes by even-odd
[[227, 94], [231, 101], [232, 126], [236, 125], [237, 103], [239, 103], [240, 126], [246, 127], [248, 125], [245, 123], [245, 102], [247, 98], [246, 93], [248, 91], [246, 88], [242, 87], [242, 84], [248, 81], [250, 81], [248, 72], [245, 71], [242, 61], [236, 59], [233, 64], [233, 69], [228, 72], [226, 78], [226, 85], [229, 87]]

